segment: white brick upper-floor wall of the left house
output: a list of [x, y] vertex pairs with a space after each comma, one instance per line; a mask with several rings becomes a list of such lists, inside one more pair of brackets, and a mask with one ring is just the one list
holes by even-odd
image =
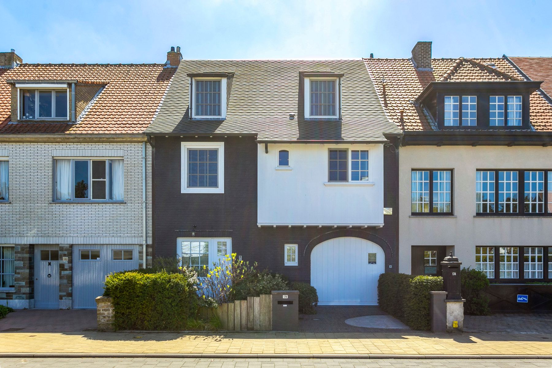
[[[0, 244], [142, 244], [142, 142], [0, 143], [9, 158], [9, 203]], [[124, 158], [124, 203], [53, 199], [54, 157]], [[73, 156], [75, 157], [75, 156]], [[151, 244], [151, 147], [146, 143], [146, 231]]]

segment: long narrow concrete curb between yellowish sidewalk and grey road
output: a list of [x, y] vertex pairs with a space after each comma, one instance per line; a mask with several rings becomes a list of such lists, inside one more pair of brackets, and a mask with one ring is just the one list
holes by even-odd
[[167, 353], [0, 353], [0, 358], [284, 358], [284, 359], [552, 359], [539, 354], [167, 354]]

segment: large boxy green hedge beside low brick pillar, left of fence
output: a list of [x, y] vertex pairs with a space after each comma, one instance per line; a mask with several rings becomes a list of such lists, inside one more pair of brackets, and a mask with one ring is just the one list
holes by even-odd
[[104, 296], [113, 297], [115, 329], [179, 330], [195, 317], [198, 297], [184, 274], [128, 271], [110, 274]]

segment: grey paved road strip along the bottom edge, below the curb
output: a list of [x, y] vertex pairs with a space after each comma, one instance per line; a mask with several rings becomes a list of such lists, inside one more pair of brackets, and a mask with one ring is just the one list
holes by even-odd
[[0, 358], [0, 368], [532, 368], [552, 367], [548, 359], [174, 359], [174, 358]]

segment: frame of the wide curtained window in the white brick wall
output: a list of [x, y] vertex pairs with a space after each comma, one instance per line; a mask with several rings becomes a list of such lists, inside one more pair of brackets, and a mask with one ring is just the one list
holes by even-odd
[[[122, 203], [125, 201], [125, 169], [124, 169], [124, 158], [122, 157], [53, 157], [54, 158], [54, 188], [53, 188], [53, 201], [54, 202], [118, 202]], [[71, 199], [70, 200], [61, 200], [56, 198], [56, 187], [57, 187], [57, 160], [68, 159], [71, 161]], [[123, 161], [123, 199], [113, 200], [109, 199], [109, 184], [113, 185], [113, 180], [109, 178], [109, 161], [112, 160], [121, 160]], [[88, 198], [75, 198], [75, 161], [88, 161]], [[92, 161], [105, 161], [105, 179], [92, 179]], [[92, 180], [96, 182], [105, 182], [105, 199], [94, 199], [92, 198]]]

